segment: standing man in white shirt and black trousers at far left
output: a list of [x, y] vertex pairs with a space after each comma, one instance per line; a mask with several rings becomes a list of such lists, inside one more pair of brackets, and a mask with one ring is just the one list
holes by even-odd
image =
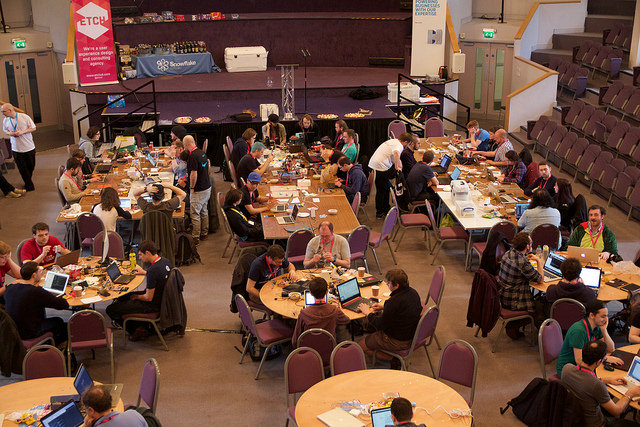
[[2, 131], [11, 137], [11, 150], [20, 176], [24, 181], [25, 190], [33, 191], [31, 176], [36, 168], [36, 146], [33, 143], [31, 132], [36, 130], [36, 125], [31, 117], [24, 113], [17, 113], [13, 105], [2, 104]]

